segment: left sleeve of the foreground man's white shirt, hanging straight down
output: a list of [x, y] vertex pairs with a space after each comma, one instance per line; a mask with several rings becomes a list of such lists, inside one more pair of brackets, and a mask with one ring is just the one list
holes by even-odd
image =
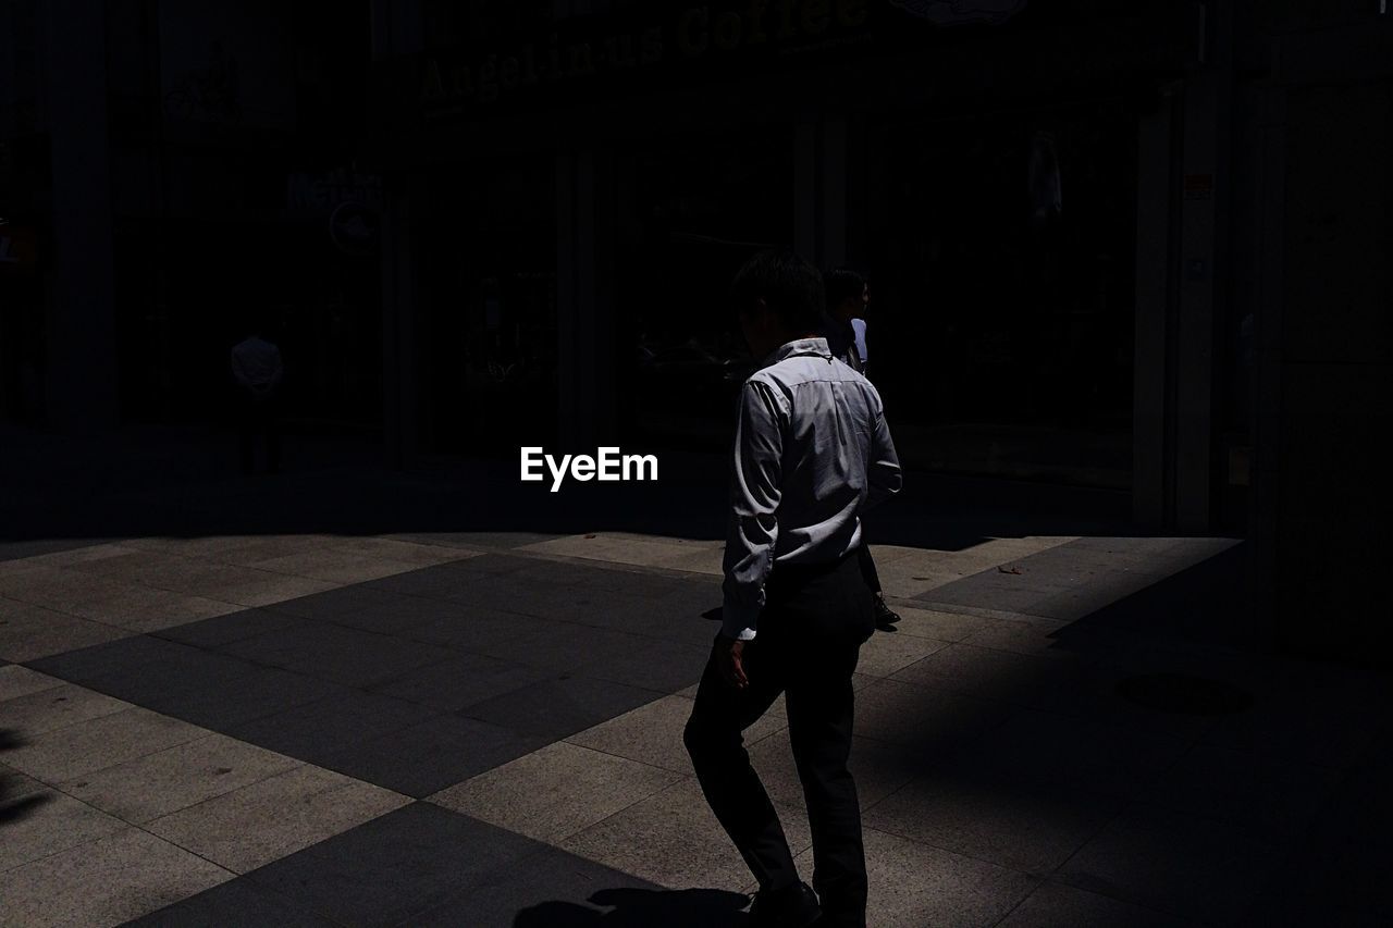
[[765, 605], [779, 536], [779, 485], [783, 471], [784, 414], [773, 389], [759, 380], [740, 394], [730, 477], [730, 529], [726, 536], [722, 634], [751, 640]]

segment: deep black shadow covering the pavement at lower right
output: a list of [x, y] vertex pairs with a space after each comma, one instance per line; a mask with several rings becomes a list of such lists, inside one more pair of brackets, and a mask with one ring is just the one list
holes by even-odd
[[[1245, 543], [1169, 574], [1159, 559], [1095, 577], [1087, 560], [1068, 569], [1067, 548], [1024, 559], [1020, 575], [983, 571], [933, 591], [992, 606], [1000, 595], [983, 584], [1034, 585], [1011, 606], [1021, 614], [1009, 634], [972, 633], [859, 697], [875, 713], [858, 729], [862, 750], [911, 783], [868, 826], [893, 822], [1089, 893], [1106, 924], [1152, 924], [1155, 913], [1329, 924], [1336, 907], [1350, 924], [1378, 924], [1393, 819], [1373, 778], [1387, 769], [1393, 680], [1319, 663], [1305, 656], [1314, 648], [1283, 655], [1261, 637]], [[1321, 616], [1309, 634], [1322, 634]], [[1017, 921], [1077, 917], [1038, 904]]]

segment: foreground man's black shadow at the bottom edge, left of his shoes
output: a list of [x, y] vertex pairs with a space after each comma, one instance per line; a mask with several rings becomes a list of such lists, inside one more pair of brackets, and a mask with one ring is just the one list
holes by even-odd
[[513, 928], [737, 928], [748, 896], [722, 889], [602, 889], [588, 900], [596, 911], [568, 902], [524, 908]]

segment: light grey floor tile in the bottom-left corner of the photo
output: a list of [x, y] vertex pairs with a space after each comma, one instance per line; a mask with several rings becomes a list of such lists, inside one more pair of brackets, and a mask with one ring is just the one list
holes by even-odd
[[137, 828], [0, 874], [0, 925], [114, 925], [233, 878]]

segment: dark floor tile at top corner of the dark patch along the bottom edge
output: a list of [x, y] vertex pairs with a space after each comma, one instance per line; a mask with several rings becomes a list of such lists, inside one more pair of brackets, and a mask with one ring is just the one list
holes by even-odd
[[343, 925], [398, 924], [495, 874], [525, 871], [529, 856], [543, 847], [439, 805], [414, 803], [249, 878]]

